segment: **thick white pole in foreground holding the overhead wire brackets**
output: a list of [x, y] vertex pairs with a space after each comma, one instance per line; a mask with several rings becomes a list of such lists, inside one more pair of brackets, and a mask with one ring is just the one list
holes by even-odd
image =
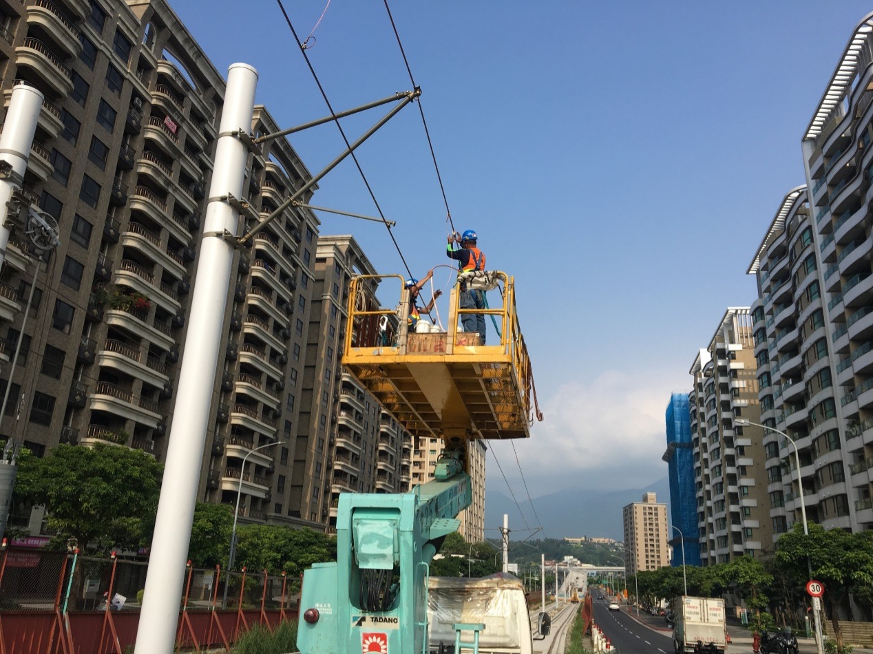
[[210, 202], [203, 221], [203, 232], [209, 236], [204, 236], [201, 243], [191, 299], [189, 334], [196, 334], [196, 338], [185, 343], [182, 357], [135, 654], [168, 654], [175, 645], [197, 485], [209, 426], [212, 380], [218, 368], [233, 263], [233, 244], [220, 235], [230, 233], [235, 237], [239, 219], [237, 210], [218, 198], [228, 194], [243, 196], [249, 153], [244, 142], [231, 132], [251, 132], [257, 83], [258, 71], [251, 65], [230, 65]]

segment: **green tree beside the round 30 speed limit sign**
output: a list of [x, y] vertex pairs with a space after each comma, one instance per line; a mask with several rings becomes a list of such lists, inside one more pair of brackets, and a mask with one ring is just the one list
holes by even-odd
[[837, 651], [842, 651], [842, 629], [838, 609], [849, 593], [870, 598], [873, 587], [873, 538], [870, 532], [849, 534], [842, 529], [825, 529], [810, 523], [809, 535], [800, 524], [782, 534], [776, 543], [776, 561], [792, 568], [794, 578], [806, 576], [807, 558], [815, 580], [824, 584], [822, 598], [834, 625]]

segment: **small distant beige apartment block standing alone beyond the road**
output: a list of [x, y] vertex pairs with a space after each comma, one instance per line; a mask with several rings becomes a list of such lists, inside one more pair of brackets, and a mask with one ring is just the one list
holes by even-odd
[[658, 504], [656, 493], [643, 493], [643, 501], [622, 509], [624, 561], [629, 575], [670, 565], [667, 551], [667, 505]]

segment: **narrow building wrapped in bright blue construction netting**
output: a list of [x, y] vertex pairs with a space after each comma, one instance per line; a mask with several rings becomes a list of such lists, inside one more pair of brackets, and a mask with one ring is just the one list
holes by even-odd
[[[700, 565], [698, 542], [698, 502], [694, 492], [694, 453], [691, 450], [691, 423], [688, 414], [688, 396], [673, 393], [667, 405], [667, 451], [663, 460], [670, 472], [670, 518], [673, 526], [684, 535], [684, 554], [673, 557], [673, 566], [683, 562]], [[670, 545], [682, 545], [682, 539], [671, 530]], [[675, 542], [674, 542], [675, 541]]]

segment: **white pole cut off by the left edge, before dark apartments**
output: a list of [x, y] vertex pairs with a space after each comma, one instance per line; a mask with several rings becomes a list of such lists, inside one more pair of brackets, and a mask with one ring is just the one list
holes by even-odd
[[0, 134], [0, 162], [10, 167], [5, 175], [0, 176], [0, 266], [6, 258], [6, 244], [9, 243], [9, 221], [6, 219], [9, 209], [6, 203], [24, 181], [43, 100], [43, 94], [33, 86], [17, 84], [12, 87], [9, 109], [3, 121], [3, 134]]

